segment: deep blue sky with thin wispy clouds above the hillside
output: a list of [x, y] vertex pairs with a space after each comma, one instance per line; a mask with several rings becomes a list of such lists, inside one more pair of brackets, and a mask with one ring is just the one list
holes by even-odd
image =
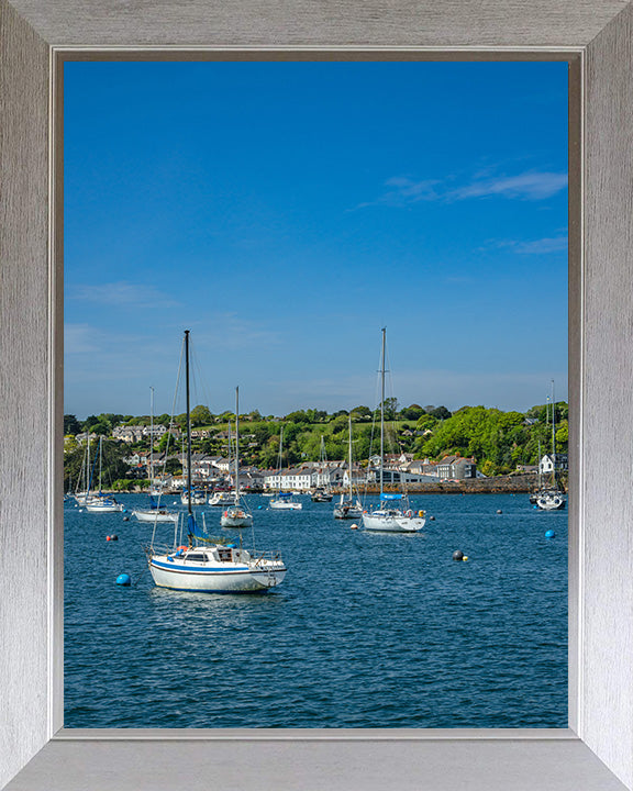
[[567, 397], [567, 65], [67, 63], [65, 411]]

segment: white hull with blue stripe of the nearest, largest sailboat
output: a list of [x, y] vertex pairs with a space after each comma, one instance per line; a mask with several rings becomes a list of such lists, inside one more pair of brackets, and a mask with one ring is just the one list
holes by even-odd
[[281, 584], [286, 568], [278, 564], [259, 569], [235, 566], [226, 569], [191, 569], [152, 558], [149, 571], [159, 588], [199, 593], [257, 593]]

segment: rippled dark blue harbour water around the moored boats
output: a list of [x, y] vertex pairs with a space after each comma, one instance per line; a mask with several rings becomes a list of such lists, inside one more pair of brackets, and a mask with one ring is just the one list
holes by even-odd
[[302, 502], [249, 497], [257, 548], [289, 569], [260, 595], [157, 589], [152, 525], [66, 504], [65, 726], [567, 726], [565, 512], [525, 494], [418, 497], [435, 521], [396, 535]]

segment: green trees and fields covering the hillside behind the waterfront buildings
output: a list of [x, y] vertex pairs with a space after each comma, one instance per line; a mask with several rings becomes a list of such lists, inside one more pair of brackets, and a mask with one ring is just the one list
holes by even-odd
[[[387, 453], [408, 453], [413, 458], [429, 458], [438, 461], [446, 455], [474, 457], [478, 469], [485, 475], [503, 475], [517, 469], [518, 465], [535, 465], [541, 456], [552, 449], [552, 420], [554, 417], [556, 452], [567, 453], [568, 406], [564, 401], [555, 404], [532, 406], [526, 412], [503, 412], [496, 408], [462, 406], [451, 412], [446, 406], [411, 404], [400, 408], [397, 399], [386, 399], [385, 419], [388, 425]], [[322, 438], [329, 459], [347, 457], [348, 420], [352, 419], [353, 456], [356, 461], [366, 461], [378, 450], [377, 411], [358, 405], [354, 409], [329, 413], [324, 410], [296, 410], [284, 417], [263, 416], [254, 411], [240, 415], [241, 459], [263, 469], [276, 468], [279, 464], [279, 438], [284, 428], [284, 467], [316, 461], [321, 456]], [[193, 450], [209, 455], [227, 455], [229, 441], [225, 436], [232, 412], [213, 414], [208, 406], [197, 405], [191, 410], [195, 428], [206, 428], [210, 436], [193, 442]], [[155, 423], [169, 425], [169, 415], [157, 415]], [[147, 415], [90, 415], [78, 421], [75, 415], [64, 416], [64, 431], [76, 435], [90, 431], [110, 436], [116, 425], [148, 425]], [[174, 425], [185, 427], [185, 415], [177, 415]], [[121, 448], [122, 457], [133, 450], [148, 449], [148, 438]], [[178, 442], [165, 434], [155, 444], [155, 449], [169, 448], [177, 453]], [[69, 450], [73, 444], [69, 445]], [[78, 448], [77, 448], [78, 450]], [[76, 463], [75, 463], [76, 464]], [[171, 459], [170, 471], [178, 471]], [[118, 476], [119, 477], [119, 476]]]

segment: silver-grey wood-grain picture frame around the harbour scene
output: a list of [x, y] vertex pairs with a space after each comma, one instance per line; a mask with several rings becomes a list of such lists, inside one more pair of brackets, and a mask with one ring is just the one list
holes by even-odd
[[[53, 5], [53, 7], [52, 7]], [[254, 58], [371, 52], [566, 57], [571, 158], [568, 731], [64, 732], [62, 52], [206, 48]], [[321, 54], [321, 55], [319, 55]], [[347, 55], [348, 54], [348, 55]], [[628, 426], [633, 261], [633, 8], [622, 0], [377, 0], [289, 7], [0, 0], [0, 784], [23, 789], [633, 788], [633, 544]], [[58, 164], [58, 163], [57, 163]], [[25, 436], [25, 433], [27, 436]], [[613, 459], [620, 459], [613, 464]], [[622, 461], [624, 459], [624, 461]]]

